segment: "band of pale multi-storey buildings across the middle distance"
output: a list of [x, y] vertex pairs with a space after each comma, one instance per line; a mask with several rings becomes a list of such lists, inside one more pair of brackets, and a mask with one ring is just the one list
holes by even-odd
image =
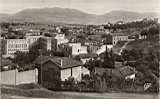
[[[40, 43], [42, 49], [52, 50], [52, 51], [63, 51], [66, 54], [71, 54], [71, 56], [76, 56], [79, 54], [90, 53], [101, 53], [105, 51], [105, 46], [113, 47], [118, 41], [131, 41], [135, 38], [129, 38], [128, 35], [122, 33], [112, 33], [109, 36], [107, 43], [93, 43], [85, 42], [83, 45], [81, 42], [70, 42], [70, 39], [65, 37], [63, 33], [55, 33], [54, 36], [47, 37], [44, 35], [36, 36], [25, 36], [24, 39], [4, 39], [1, 38], [2, 55], [3, 56], [13, 56], [16, 51], [28, 52], [29, 49], [35, 44]], [[67, 55], [68, 56], [68, 55]]]

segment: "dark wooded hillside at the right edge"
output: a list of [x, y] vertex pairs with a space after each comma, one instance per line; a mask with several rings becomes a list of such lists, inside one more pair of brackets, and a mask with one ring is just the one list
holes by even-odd
[[150, 27], [143, 30], [142, 34], [147, 35], [144, 40], [130, 42], [122, 52], [122, 57], [127, 61], [126, 65], [133, 66], [140, 73], [135, 84], [143, 85], [152, 83], [149, 91], [158, 92], [160, 45], [158, 39], [158, 27]]

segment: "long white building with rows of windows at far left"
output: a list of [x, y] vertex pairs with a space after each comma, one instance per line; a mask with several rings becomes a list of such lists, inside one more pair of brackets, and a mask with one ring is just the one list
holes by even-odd
[[3, 39], [2, 54], [12, 56], [16, 51], [28, 52], [29, 44], [27, 39]]

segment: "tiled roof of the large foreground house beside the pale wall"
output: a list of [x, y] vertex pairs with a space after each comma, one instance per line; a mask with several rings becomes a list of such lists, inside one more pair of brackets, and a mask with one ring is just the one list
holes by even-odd
[[[41, 61], [42, 60], [42, 61]], [[34, 63], [35, 64], [44, 64], [48, 61], [51, 61], [53, 63], [56, 63], [60, 66], [60, 68], [65, 69], [69, 67], [76, 67], [76, 66], [82, 66], [82, 62], [74, 60], [72, 58], [68, 57], [53, 57], [53, 56], [42, 56], [41, 58], [38, 57]], [[62, 66], [61, 66], [62, 63]]]

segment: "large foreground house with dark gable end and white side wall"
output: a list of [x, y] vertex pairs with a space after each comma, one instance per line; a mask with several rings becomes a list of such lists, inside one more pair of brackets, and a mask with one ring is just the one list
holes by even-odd
[[68, 57], [38, 57], [34, 63], [39, 68], [39, 83], [49, 89], [60, 88], [60, 82], [74, 77], [82, 80], [82, 75], [89, 74], [82, 62]]

